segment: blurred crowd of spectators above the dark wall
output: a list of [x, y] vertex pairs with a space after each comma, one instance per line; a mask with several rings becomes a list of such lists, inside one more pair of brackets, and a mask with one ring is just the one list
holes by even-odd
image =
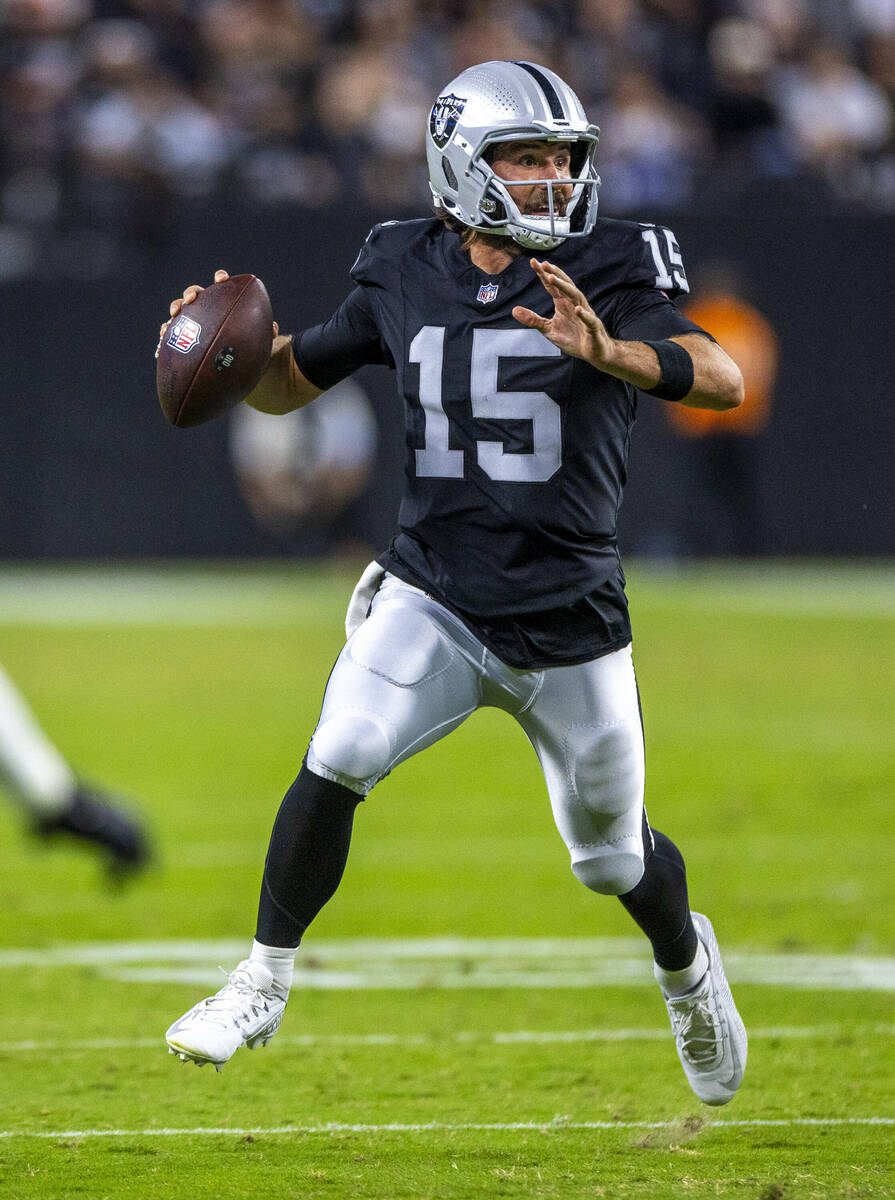
[[895, 210], [895, 0], [6, 0], [0, 277], [112, 275], [184, 200], [428, 205], [425, 118], [530, 59], [602, 126], [614, 216]]

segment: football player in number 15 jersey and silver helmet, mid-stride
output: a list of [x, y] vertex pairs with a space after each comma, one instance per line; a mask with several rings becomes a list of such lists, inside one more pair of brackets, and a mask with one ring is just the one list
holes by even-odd
[[597, 220], [597, 136], [545, 67], [462, 72], [430, 114], [436, 216], [374, 227], [329, 320], [275, 329], [250, 403], [288, 412], [360, 366], [391, 367], [407, 487], [274, 824], [251, 954], [168, 1030], [185, 1061], [220, 1069], [276, 1032], [358, 803], [493, 706], [535, 748], [577, 878], [617, 895], [649, 938], [693, 1091], [725, 1104], [740, 1085], [746, 1033], [711, 924], [691, 913], [680, 851], [644, 811], [615, 527], [636, 390], [726, 409], [743, 382], [673, 302], [687, 282], [671, 230]]

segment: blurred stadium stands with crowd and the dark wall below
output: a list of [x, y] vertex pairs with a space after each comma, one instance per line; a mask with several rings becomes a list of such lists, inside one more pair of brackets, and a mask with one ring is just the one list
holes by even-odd
[[[223, 422], [155, 408], [167, 301], [226, 265], [281, 320], [325, 316], [368, 226], [430, 211], [427, 108], [483, 58], [563, 73], [603, 131], [602, 211], [672, 224], [697, 286], [734, 260], [775, 326], [764, 552], [891, 552], [893, 0], [7, 0], [0, 554], [259, 552]], [[364, 385], [377, 541], [401, 418]], [[643, 406], [629, 548], [673, 551], [686, 482]]]

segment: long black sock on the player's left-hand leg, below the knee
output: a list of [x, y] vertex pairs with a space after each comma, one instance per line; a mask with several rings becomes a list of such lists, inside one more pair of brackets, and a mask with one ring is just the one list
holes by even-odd
[[280, 805], [264, 863], [256, 941], [298, 946], [335, 893], [362, 796], [302, 766]]

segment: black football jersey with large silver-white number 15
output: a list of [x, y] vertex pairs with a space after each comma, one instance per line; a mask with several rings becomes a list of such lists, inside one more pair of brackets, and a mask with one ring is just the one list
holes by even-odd
[[[671, 230], [601, 218], [547, 256], [613, 337], [703, 332]], [[388, 222], [352, 268], [355, 290], [295, 338], [331, 386], [392, 367], [404, 401], [406, 490], [380, 562], [456, 612], [511, 666], [582, 662], [631, 640], [617, 520], [636, 391], [512, 317], [553, 301], [529, 256], [486, 275], [437, 220]]]

